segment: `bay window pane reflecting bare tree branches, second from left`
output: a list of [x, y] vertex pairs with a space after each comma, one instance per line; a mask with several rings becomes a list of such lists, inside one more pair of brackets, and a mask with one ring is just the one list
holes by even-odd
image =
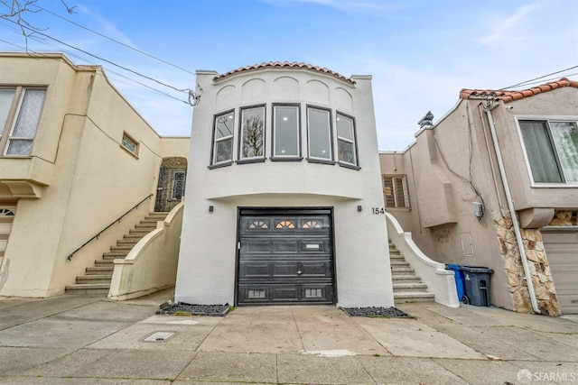
[[265, 105], [241, 108], [239, 160], [265, 159]]

